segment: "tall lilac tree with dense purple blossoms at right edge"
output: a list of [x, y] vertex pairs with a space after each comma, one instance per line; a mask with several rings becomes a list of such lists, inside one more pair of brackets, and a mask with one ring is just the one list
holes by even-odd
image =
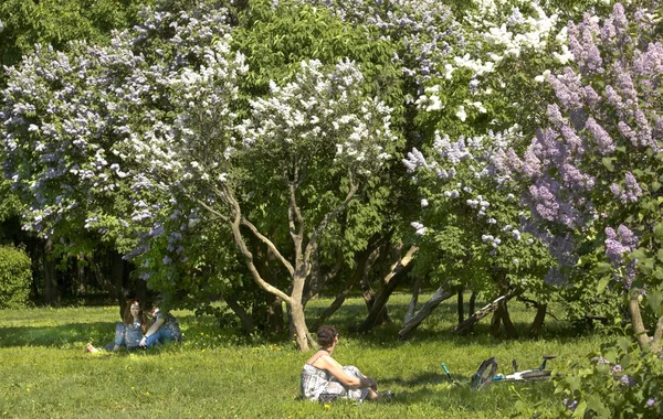
[[522, 155], [501, 155], [528, 186], [530, 232], [559, 261], [548, 279], [572, 281], [593, 268], [598, 292], [625, 296], [638, 343], [654, 351], [663, 336], [656, 18], [648, 9], [628, 15], [615, 4], [601, 24], [590, 14], [570, 23], [576, 65], [549, 77], [557, 97], [548, 105], [549, 126]]

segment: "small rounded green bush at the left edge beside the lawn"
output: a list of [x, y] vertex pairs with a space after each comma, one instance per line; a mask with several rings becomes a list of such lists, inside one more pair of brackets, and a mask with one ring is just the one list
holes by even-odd
[[30, 258], [21, 248], [0, 246], [0, 309], [25, 307], [32, 279]]

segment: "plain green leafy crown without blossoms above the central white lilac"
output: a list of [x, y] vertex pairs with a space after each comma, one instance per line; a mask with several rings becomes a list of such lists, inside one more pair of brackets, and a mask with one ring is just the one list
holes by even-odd
[[333, 65], [349, 58], [361, 67], [366, 93], [378, 95], [400, 114], [403, 93], [400, 67], [391, 61], [394, 45], [376, 40], [366, 28], [340, 21], [326, 8], [297, 1], [273, 7], [271, 1], [256, 0], [240, 13], [232, 35], [233, 49], [246, 56], [250, 67], [242, 79], [245, 95], [265, 94], [271, 80], [292, 80], [304, 60]]

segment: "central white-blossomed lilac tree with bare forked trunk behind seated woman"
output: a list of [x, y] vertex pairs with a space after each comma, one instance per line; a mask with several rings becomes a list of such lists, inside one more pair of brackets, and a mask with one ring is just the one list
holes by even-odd
[[[218, 90], [227, 86], [228, 72], [209, 75], [182, 74], [179, 83], [188, 86], [178, 89], [182, 94], [178, 100], [188, 111], [180, 114], [169, 131], [155, 130], [152, 141], [135, 153], [155, 150], [155, 140], [162, 144], [157, 150], [168, 148], [168, 152], [147, 154], [149, 171], [170, 180], [170, 193], [178, 201], [196, 203], [201, 217], [228, 225], [255, 282], [288, 305], [297, 344], [307, 350], [313, 342], [303, 291], [313, 254], [329, 223], [393, 153], [390, 109], [364, 96], [362, 75], [354, 63], [341, 62], [326, 71], [322, 63], [308, 61], [302, 63], [294, 80], [283, 87], [272, 83], [267, 97], [252, 99], [251, 118], [224, 127], [219, 123], [222, 109], [199, 104], [213, 104], [212, 96], [232, 100], [229, 92], [221, 95]], [[282, 200], [283, 212], [270, 216], [287, 225], [292, 241], [285, 249], [261, 232], [265, 222], [254, 211], [261, 197], [270, 194]], [[263, 278], [250, 236], [266, 245], [283, 266], [290, 293]], [[176, 254], [177, 249], [172, 258]]]

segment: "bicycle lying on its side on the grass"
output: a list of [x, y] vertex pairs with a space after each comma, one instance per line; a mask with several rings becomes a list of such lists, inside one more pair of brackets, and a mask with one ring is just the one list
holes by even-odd
[[[496, 382], [543, 382], [551, 378], [552, 372], [550, 369], [545, 369], [546, 364], [549, 359], [554, 359], [556, 355], [544, 355], [544, 362], [539, 367], [518, 370], [518, 363], [516, 359], [512, 361], [512, 366], [514, 367], [513, 374], [496, 374], [497, 373], [497, 361], [495, 357], [491, 357], [484, 361], [478, 367], [476, 374], [474, 374], [470, 380], [470, 387], [475, 390], [481, 390], [482, 388], [487, 387], [491, 383]], [[451, 374], [449, 373], [449, 368], [444, 363], [441, 364], [442, 369], [446, 373], [449, 379], [456, 386], [460, 386], [457, 380], [451, 378]], [[490, 367], [490, 368], [488, 368]]]

